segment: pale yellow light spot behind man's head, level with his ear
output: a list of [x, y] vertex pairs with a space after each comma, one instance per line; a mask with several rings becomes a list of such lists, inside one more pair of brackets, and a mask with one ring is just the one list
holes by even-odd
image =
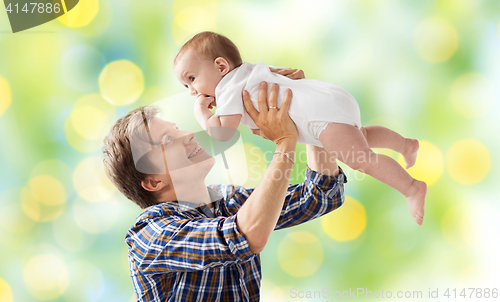
[[78, 195], [89, 202], [108, 200], [116, 190], [104, 172], [100, 157], [82, 160], [73, 174], [73, 184]]

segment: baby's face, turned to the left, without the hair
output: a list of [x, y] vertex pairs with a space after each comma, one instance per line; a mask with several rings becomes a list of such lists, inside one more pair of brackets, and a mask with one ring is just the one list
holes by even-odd
[[200, 58], [191, 49], [177, 59], [174, 72], [179, 82], [188, 88], [194, 97], [200, 94], [215, 97], [215, 87], [222, 79], [215, 62]]

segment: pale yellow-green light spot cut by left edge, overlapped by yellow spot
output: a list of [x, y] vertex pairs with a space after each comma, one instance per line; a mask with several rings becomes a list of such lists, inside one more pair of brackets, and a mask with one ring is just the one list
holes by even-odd
[[22, 188], [9, 188], [0, 193], [0, 227], [14, 234], [25, 233], [35, 225], [21, 207], [21, 191]]

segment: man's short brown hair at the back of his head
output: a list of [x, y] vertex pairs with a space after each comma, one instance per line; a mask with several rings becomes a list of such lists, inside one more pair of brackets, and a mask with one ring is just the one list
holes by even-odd
[[134, 132], [144, 131], [144, 118], [151, 120], [158, 112], [159, 109], [154, 106], [135, 109], [119, 119], [111, 128], [109, 135], [104, 139], [103, 162], [106, 175], [125, 197], [135, 202], [142, 209], [158, 202], [156, 197], [141, 185], [147, 174], [136, 169], [130, 146], [130, 137], [132, 135], [134, 137], [144, 137], [147, 142], [147, 133]]

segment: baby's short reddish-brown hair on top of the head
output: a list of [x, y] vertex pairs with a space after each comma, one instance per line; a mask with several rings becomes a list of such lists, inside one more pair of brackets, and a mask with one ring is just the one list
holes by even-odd
[[243, 64], [241, 55], [234, 43], [223, 35], [216, 34], [210, 31], [204, 31], [196, 34], [189, 39], [177, 53], [174, 59], [174, 64], [177, 59], [188, 49], [193, 49], [197, 55], [203, 59], [215, 60], [218, 57], [223, 57], [233, 68]]

